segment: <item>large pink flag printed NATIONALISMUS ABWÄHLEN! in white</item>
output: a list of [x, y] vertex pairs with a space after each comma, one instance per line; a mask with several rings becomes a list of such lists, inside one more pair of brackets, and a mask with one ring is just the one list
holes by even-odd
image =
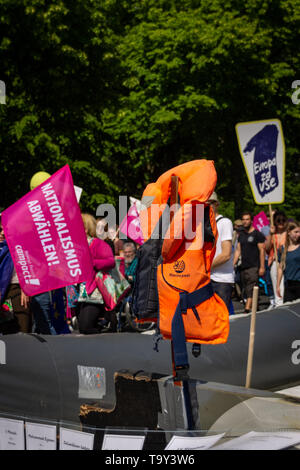
[[92, 279], [92, 259], [68, 165], [2, 212], [1, 219], [25, 294]]

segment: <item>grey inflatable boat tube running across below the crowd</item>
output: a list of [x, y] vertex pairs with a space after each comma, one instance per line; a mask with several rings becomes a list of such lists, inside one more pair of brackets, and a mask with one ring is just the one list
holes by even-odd
[[[189, 344], [189, 377], [244, 387], [250, 319], [250, 314], [231, 317], [227, 343], [202, 346], [197, 358]], [[1, 336], [0, 413], [78, 422], [82, 406], [113, 409], [117, 373], [172, 376], [171, 344], [161, 340], [156, 350], [155, 338], [139, 333]], [[271, 391], [297, 385], [299, 362], [300, 302], [257, 312], [251, 387]]]

